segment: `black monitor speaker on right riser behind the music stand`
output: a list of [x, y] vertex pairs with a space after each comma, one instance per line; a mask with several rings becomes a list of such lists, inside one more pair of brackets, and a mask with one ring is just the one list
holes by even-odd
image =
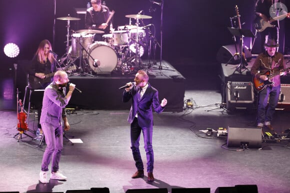
[[[236, 44], [237, 52], [240, 52], [240, 47], [239, 44]], [[250, 61], [252, 58], [251, 53], [249, 52], [248, 49], [245, 47], [243, 48], [244, 50], [244, 55], [246, 58], [246, 61]], [[235, 50], [235, 45], [223, 45], [219, 48], [219, 50], [216, 53], [216, 60], [220, 63], [227, 63], [228, 64], [239, 64], [240, 63], [240, 57], [235, 55], [233, 58], [232, 56], [236, 53]]]

